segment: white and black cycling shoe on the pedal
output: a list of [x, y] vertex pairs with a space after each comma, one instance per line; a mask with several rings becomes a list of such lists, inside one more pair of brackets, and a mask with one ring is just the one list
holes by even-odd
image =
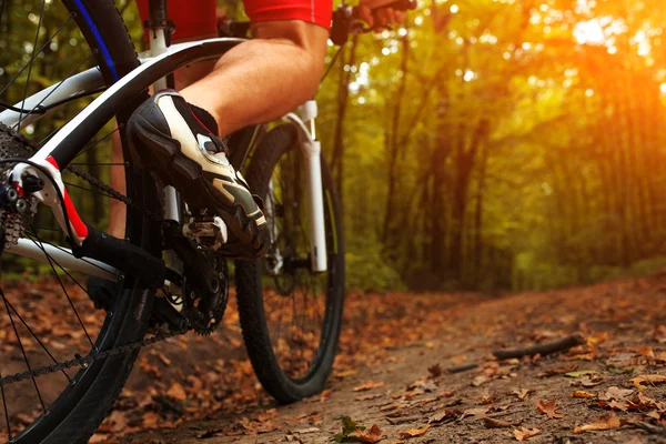
[[163, 90], [134, 111], [128, 129], [143, 162], [181, 193], [193, 213], [222, 218], [232, 234], [221, 249], [223, 254], [263, 254], [268, 234], [261, 199], [229, 163], [226, 147], [208, 112], [190, 105], [178, 92]]

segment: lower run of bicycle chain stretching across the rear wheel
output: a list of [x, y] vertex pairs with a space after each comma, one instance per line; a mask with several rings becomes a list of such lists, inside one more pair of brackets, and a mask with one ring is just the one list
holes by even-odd
[[119, 345], [119, 346], [109, 349], [103, 352], [94, 351], [92, 353], [87, 354], [85, 356], [80, 356], [79, 354], [77, 354], [73, 360], [59, 362], [59, 363], [51, 364], [51, 365], [44, 365], [42, 367], [29, 370], [29, 371], [26, 371], [22, 373], [14, 373], [10, 376], [0, 377], [0, 387], [4, 387], [6, 385], [10, 385], [10, 384], [27, 380], [29, 377], [43, 376], [43, 375], [47, 375], [50, 373], [62, 372], [67, 369], [71, 369], [77, 365], [80, 366], [81, 369], [87, 369], [90, 364], [92, 364], [95, 361], [104, 360], [107, 357], [115, 356], [119, 354], [130, 353], [137, 349], [142, 349], [147, 345], [157, 344], [159, 342], [167, 341], [170, 337], [180, 336], [182, 334], [188, 333], [190, 330], [192, 330], [192, 329], [188, 327], [184, 330], [176, 330], [174, 332], [169, 332], [165, 334], [158, 333], [152, 337], [143, 339], [141, 341], [130, 342], [129, 344]]

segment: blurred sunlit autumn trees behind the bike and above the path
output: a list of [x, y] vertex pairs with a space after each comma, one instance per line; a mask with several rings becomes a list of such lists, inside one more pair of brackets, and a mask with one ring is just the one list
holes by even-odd
[[[665, 28], [660, 0], [425, 0], [331, 46], [319, 133], [349, 286], [542, 290], [666, 265]], [[74, 36], [58, 44], [72, 57], [44, 51], [42, 88], [77, 62]], [[0, 67], [21, 59], [0, 47]]]

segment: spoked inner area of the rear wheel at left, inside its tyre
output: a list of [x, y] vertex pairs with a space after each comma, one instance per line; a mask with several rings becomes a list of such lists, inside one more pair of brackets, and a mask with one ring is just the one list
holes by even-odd
[[[46, 87], [47, 79], [64, 80], [94, 65], [94, 52], [77, 28], [74, 17], [60, 2], [34, 0], [19, 4], [3, 1], [1, 4], [0, 105], [26, 103], [28, 95]], [[26, 27], [26, 33], [29, 28], [32, 29], [30, 39], [22, 39], [12, 31], [20, 26]], [[57, 57], [54, 53], [63, 47], [68, 47], [68, 60], [49, 63], [49, 58]], [[21, 56], [17, 57], [18, 64], [10, 60], [16, 54]], [[43, 67], [50, 71], [40, 70]], [[19, 123], [14, 130], [21, 129], [21, 134], [39, 147], [89, 101], [72, 101], [61, 107], [58, 113], [34, 124]], [[23, 121], [37, 108], [20, 107], [19, 120]], [[118, 134], [118, 129], [108, 125], [82, 150], [73, 164], [101, 179], [108, 180], [112, 171], [113, 175], [119, 175], [117, 171], [124, 171], [125, 163], [122, 155], [118, 160], [110, 153], [110, 141]], [[130, 176], [128, 183], [135, 180]], [[63, 172], [63, 181], [77, 208], [91, 215], [85, 219], [105, 229], [108, 196], [100, 200], [99, 190], [74, 174]], [[91, 204], [90, 195], [93, 193], [98, 198]], [[49, 244], [69, 246], [54, 220], [44, 210], [40, 209], [33, 223], [26, 226], [24, 239], [39, 248]], [[124, 218], [121, 220], [124, 226], [120, 231], [131, 235], [138, 229], [135, 224], [127, 224]], [[23, 274], [20, 274], [21, 271]], [[50, 278], [40, 275], [34, 279], [40, 272]], [[34, 279], [34, 282], [27, 282], [28, 278]], [[124, 287], [122, 281], [115, 285], [117, 294], [132, 291]], [[94, 310], [87, 294], [84, 276], [63, 269], [52, 256], [47, 263], [41, 263], [24, 258], [18, 260], [4, 252], [0, 258], [0, 343], [3, 346], [0, 377], [71, 360], [77, 354], [85, 356], [94, 350], [110, 349], [128, 314], [130, 295], [123, 296], [115, 297], [109, 313]], [[17, 443], [43, 440], [88, 392], [103, 365], [103, 361], [98, 361], [84, 369], [29, 377], [0, 389], [0, 424], [4, 423], [4, 430], [0, 427], [0, 440], [12, 438]]]

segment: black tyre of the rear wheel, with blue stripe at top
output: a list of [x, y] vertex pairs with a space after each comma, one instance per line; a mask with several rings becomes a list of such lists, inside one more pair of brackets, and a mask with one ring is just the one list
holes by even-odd
[[[91, 48], [107, 85], [139, 65], [128, 30], [112, 0], [63, 0], [62, 3]], [[117, 115], [119, 123], [125, 121], [132, 111], [129, 108], [121, 111]], [[121, 139], [124, 159], [131, 159], [124, 134]], [[144, 171], [131, 167], [125, 169], [125, 182], [134, 202], [159, 208], [154, 182]], [[150, 236], [159, 230], [150, 226], [141, 212], [128, 208], [125, 230], [132, 243], [159, 253], [159, 248], [153, 246], [154, 239]], [[129, 284], [119, 285], [123, 285], [117, 292], [121, 297], [115, 297], [95, 341], [95, 347], [102, 351], [138, 341], [147, 331], [152, 294]], [[80, 370], [74, 376], [77, 383], [64, 389], [50, 405], [48, 414], [39, 416], [11, 443], [88, 442], [120, 395], [138, 353], [95, 361]]]

